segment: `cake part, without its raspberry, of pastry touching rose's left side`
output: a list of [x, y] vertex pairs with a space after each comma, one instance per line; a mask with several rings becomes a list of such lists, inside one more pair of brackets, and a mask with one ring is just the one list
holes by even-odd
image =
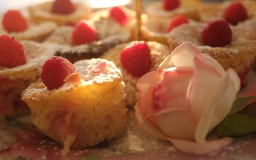
[[[131, 43], [134, 43], [134, 42], [120, 44], [110, 49], [106, 53], [104, 53], [104, 55], [102, 55], [101, 58], [105, 58], [107, 60], [113, 61], [114, 64], [117, 65], [117, 68], [121, 70], [122, 75], [124, 76], [124, 84], [125, 84], [124, 91], [127, 94], [126, 100], [125, 100], [126, 105], [133, 107], [137, 102], [136, 83], [139, 78], [134, 77], [127, 70], [124, 70], [119, 60], [119, 55], [120, 53], [122, 53], [122, 50], [125, 47], [129, 46]], [[169, 53], [171, 53], [171, 50], [169, 49], [169, 47], [156, 42], [148, 41], [147, 45], [151, 50], [152, 66], [150, 70], [156, 70], [156, 68], [159, 67], [159, 64], [164, 60], [164, 58], [166, 58], [166, 56], [169, 55]]]

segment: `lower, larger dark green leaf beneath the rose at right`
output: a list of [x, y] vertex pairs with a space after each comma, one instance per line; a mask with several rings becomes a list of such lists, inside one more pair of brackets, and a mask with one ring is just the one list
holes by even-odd
[[244, 114], [229, 114], [217, 127], [218, 137], [242, 136], [256, 132], [256, 119]]

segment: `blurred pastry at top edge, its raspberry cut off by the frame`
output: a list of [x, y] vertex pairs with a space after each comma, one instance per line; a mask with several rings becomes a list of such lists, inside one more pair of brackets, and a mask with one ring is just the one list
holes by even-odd
[[198, 6], [201, 0], [162, 0], [146, 6], [146, 15], [149, 18], [171, 18], [182, 15], [197, 20]]

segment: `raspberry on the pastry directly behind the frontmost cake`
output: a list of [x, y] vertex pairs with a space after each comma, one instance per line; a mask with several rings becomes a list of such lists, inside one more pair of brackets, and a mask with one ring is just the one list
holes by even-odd
[[80, 21], [72, 33], [72, 41], [74, 45], [91, 43], [97, 40], [97, 34], [94, 28], [91, 28], [87, 23]]

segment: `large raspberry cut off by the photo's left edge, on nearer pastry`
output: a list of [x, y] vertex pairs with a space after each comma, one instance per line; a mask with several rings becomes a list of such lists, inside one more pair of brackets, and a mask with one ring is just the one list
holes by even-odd
[[26, 63], [26, 55], [23, 46], [14, 37], [0, 36], [0, 66], [14, 68]]

